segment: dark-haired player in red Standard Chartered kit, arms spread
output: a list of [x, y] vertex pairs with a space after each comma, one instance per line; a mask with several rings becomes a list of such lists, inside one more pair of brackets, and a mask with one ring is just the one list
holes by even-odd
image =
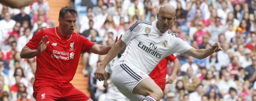
[[77, 12], [72, 7], [60, 10], [59, 26], [36, 33], [22, 49], [22, 58], [36, 56], [33, 96], [37, 101], [92, 101], [69, 83], [76, 72], [82, 51], [107, 54], [111, 46], [94, 44], [74, 33]]

